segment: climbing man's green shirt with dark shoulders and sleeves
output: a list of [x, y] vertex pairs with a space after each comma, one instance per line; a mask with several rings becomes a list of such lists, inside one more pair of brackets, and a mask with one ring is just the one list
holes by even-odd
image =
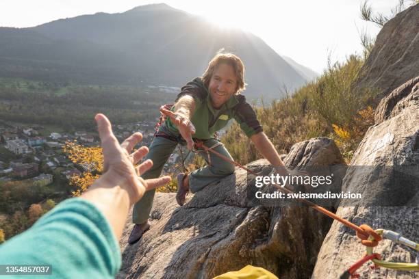
[[[191, 121], [196, 129], [194, 134], [196, 139], [213, 138], [214, 133], [223, 129], [232, 118], [240, 124], [240, 128], [248, 137], [263, 131], [255, 111], [249, 103], [246, 103], [246, 98], [241, 94], [231, 96], [223, 106], [214, 109], [208, 89], [201, 77], [197, 77], [181, 88], [176, 100], [183, 95], [190, 95], [195, 101], [195, 111]], [[179, 135], [177, 127], [170, 118], [166, 119], [165, 124], [171, 133]]]

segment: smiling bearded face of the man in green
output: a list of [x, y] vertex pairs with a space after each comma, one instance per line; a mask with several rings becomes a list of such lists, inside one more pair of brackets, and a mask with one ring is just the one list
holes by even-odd
[[211, 94], [212, 106], [216, 109], [236, 93], [237, 77], [231, 65], [220, 64], [212, 74], [208, 90]]

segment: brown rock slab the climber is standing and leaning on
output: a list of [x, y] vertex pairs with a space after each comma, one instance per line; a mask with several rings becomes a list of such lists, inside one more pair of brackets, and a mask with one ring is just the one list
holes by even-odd
[[[325, 137], [296, 144], [284, 161], [290, 168], [344, 163]], [[271, 170], [265, 160], [249, 168]], [[253, 206], [247, 181], [246, 172], [236, 169], [183, 207], [175, 194], [157, 194], [151, 228], [131, 246], [131, 216], [127, 220], [117, 278], [213, 278], [245, 265], [264, 267], [280, 278], [308, 278], [331, 220], [303, 206]]]

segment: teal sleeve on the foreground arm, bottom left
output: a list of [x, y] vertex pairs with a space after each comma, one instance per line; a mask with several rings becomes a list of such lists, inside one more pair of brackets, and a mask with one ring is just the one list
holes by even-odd
[[47, 278], [114, 278], [121, 255], [99, 209], [87, 200], [71, 198], [0, 245], [0, 264], [51, 265], [53, 274]]

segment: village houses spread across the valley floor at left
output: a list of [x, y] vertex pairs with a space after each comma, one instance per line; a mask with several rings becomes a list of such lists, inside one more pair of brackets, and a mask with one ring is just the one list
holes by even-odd
[[[132, 133], [143, 135], [141, 145], [149, 146], [157, 120], [118, 124], [113, 127], [119, 142]], [[86, 170], [85, 165], [73, 163], [63, 152], [66, 142], [85, 147], [100, 146], [99, 134], [87, 131], [65, 133], [51, 131], [38, 124], [14, 124], [0, 120], [0, 183], [8, 181], [33, 185], [55, 184], [55, 190], [69, 192], [68, 180]], [[176, 172], [179, 154], [174, 152], [164, 172]]]

